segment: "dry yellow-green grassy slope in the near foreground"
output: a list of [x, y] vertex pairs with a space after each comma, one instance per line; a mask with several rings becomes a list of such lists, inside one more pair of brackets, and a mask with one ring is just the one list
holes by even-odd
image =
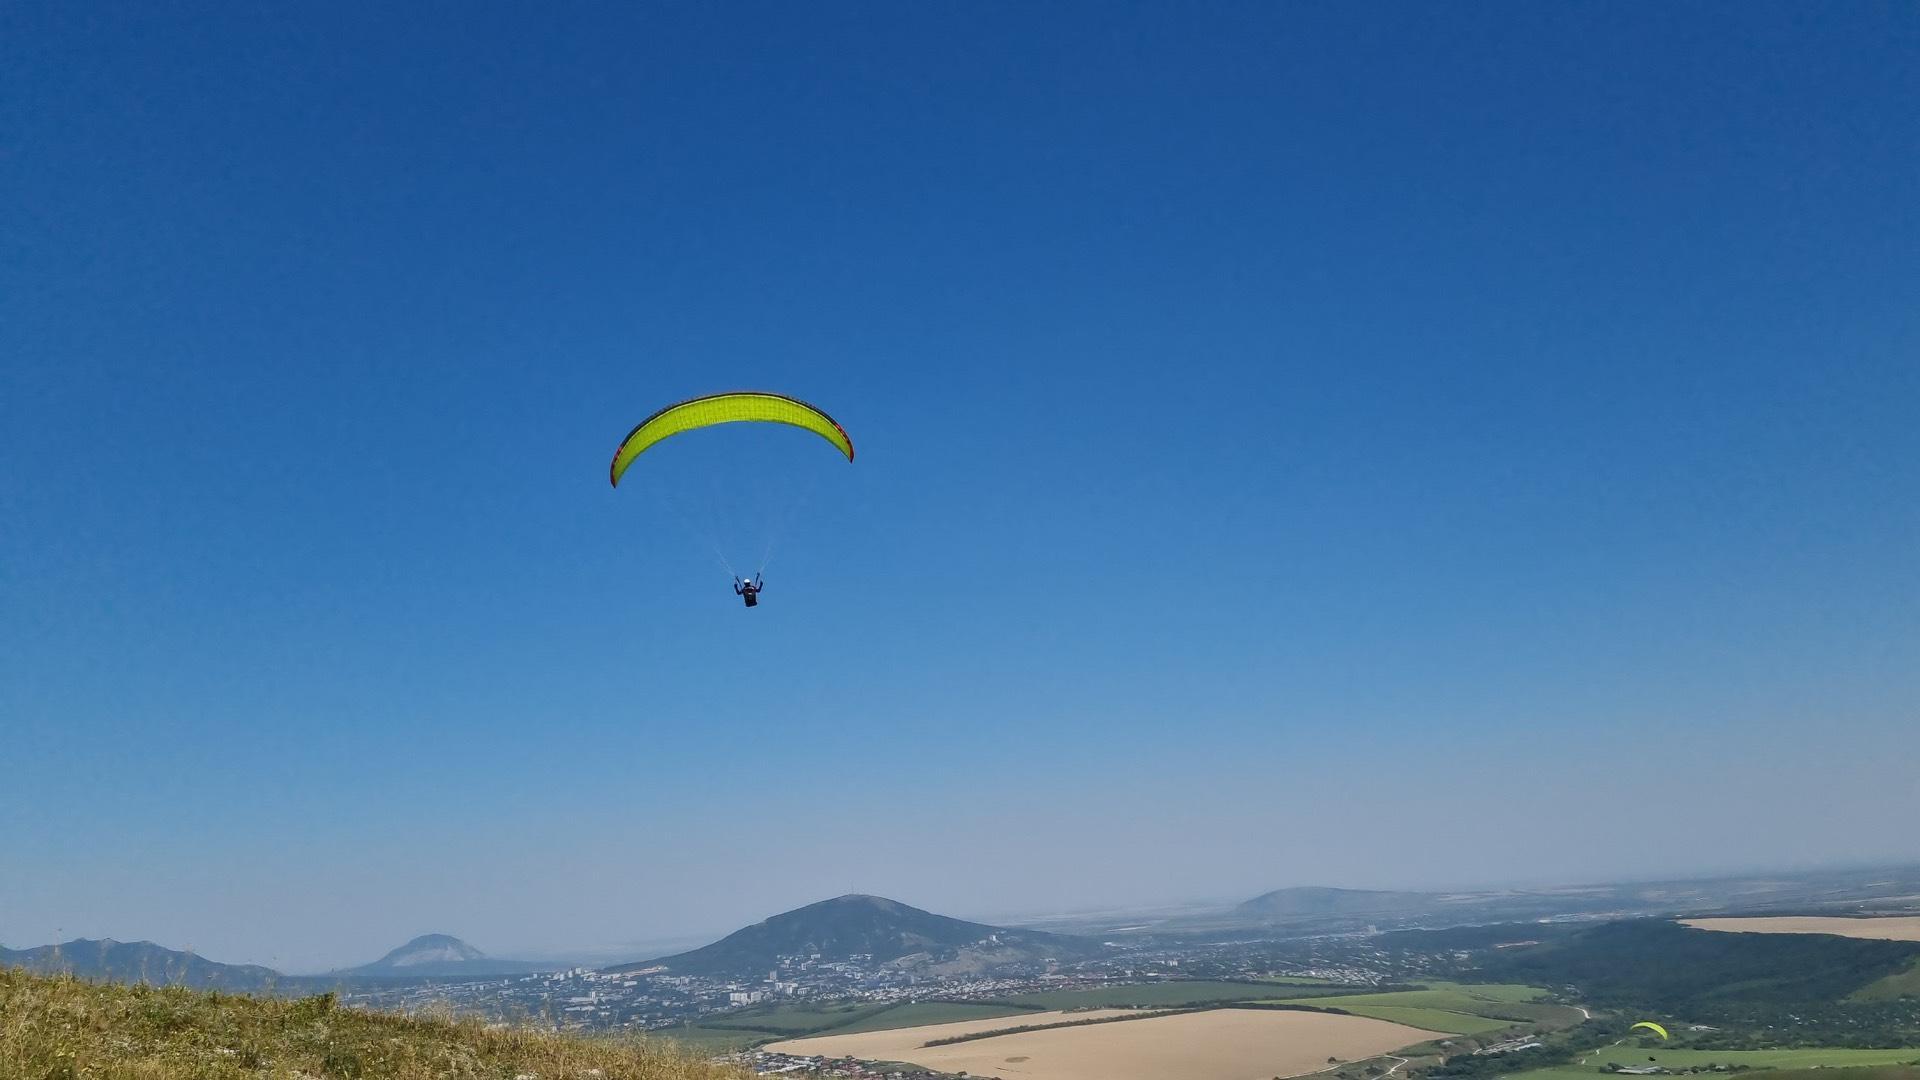
[[336, 1009], [0, 969], [6, 1080], [737, 1080], [655, 1040]]

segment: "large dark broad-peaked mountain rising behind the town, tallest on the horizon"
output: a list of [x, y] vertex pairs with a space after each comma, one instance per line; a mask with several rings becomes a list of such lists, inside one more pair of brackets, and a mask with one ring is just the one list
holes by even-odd
[[1085, 938], [966, 922], [881, 896], [841, 896], [755, 922], [689, 953], [607, 970], [764, 978], [783, 965], [799, 970], [860, 957], [860, 963], [927, 974], [968, 974], [1039, 969], [1098, 951], [1100, 945]]

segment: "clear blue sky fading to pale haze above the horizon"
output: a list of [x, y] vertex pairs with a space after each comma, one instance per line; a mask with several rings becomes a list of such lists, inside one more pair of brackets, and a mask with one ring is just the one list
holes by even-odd
[[[1910, 8], [10, 4], [0, 90], [0, 942], [1920, 855]], [[751, 615], [605, 482], [733, 386], [860, 448], [662, 448], [810, 492]]]

